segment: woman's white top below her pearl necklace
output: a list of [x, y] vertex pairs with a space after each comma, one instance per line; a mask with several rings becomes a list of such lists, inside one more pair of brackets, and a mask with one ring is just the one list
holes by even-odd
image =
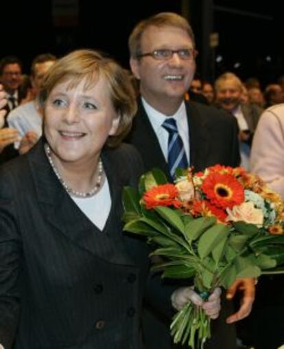
[[111, 206], [110, 188], [107, 179], [97, 194], [88, 198], [71, 196], [71, 199], [94, 225], [100, 230], [104, 229]]

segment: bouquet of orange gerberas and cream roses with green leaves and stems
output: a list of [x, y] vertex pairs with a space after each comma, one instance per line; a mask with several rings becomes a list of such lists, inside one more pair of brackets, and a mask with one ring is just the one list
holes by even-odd
[[[217, 286], [284, 269], [284, 203], [243, 168], [212, 166], [193, 175], [161, 170], [143, 175], [138, 190], [123, 192], [124, 230], [147, 237], [154, 271], [163, 278], [192, 278], [206, 300]], [[203, 347], [210, 319], [189, 303], [171, 323], [174, 342]]]

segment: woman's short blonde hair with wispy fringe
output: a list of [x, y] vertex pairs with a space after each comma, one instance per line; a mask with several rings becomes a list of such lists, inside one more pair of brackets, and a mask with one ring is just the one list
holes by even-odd
[[106, 79], [110, 100], [120, 117], [116, 134], [109, 136], [106, 142], [108, 146], [114, 147], [119, 145], [130, 131], [132, 119], [137, 112], [137, 103], [128, 74], [105, 54], [92, 49], [79, 49], [57, 60], [45, 76], [39, 96], [40, 105], [45, 111], [45, 102], [49, 94], [62, 82], [70, 80], [69, 88], [73, 89], [80, 81], [86, 79], [84, 88], [88, 90], [100, 76]]

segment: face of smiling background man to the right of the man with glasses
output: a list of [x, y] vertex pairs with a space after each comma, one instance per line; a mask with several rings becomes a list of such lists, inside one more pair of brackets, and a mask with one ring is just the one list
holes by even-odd
[[241, 102], [241, 86], [235, 80], [225, 80], [216, 89], [216, 102], [223, 109], [232, 112]]

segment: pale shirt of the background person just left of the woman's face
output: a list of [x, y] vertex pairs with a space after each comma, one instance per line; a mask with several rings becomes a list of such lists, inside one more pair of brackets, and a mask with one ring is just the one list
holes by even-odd
[[[9, 113], [7, 120], [10, 127], [19, 131], [21, 138], [28, 131], [34, 131], [38, 138], [43, 133], [43, 118], [38, 113], [34, 101], [17, 106]], [[14, 144], [16, 149], [19, 149], [19, 145], [20, 142]]]

